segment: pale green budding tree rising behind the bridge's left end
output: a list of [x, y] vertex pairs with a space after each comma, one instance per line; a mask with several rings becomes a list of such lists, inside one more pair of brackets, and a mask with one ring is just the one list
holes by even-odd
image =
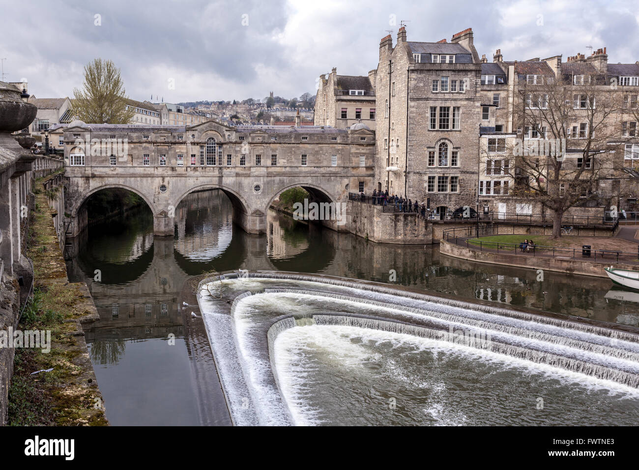
[[111, 60], [94, 59], [84, 66], [82, 90], [73, 88], [73, 113], [86, 123], [126, 124], [134, 116], [127, 108], [124, 82]]

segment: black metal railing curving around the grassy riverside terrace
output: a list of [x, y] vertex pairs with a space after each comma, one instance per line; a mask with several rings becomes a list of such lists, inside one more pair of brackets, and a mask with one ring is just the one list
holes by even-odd
[[[504, 226], [468, 226], [449, 228], [443, 231], [442, 239], [475, 251], [486, 253], [504, 253], [507, 255], [535, 256], [539, 258], [557, 258], [561, 260], [580, 260], [596, 263], [625, 263], [639, 265], [639, 246], [636, 253], [627, 253], [617, 250], [592, 249], [591, 246], [581, 248], [566, 248], [544, 245], [525, 245], [520, 243], [503, 243], [491, 240], [481, 240], [479, 237], [491, 235], [508, 235], [504, 233]], [[516, 234], [512, 226], [512, 235], [521, 235], [522, 239], [531, 239], [534, 235], [522, 233]]]

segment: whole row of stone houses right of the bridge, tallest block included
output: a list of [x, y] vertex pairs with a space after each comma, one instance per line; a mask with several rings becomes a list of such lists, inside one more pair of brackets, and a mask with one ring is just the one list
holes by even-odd
[[[315, 124], [364, 123], [376, 131], [375, 178], [366, 194], [388, 190], [427, 201], [441, 218], [465, 205], [496, 214], [537, 214], [541, 205], [515, 196], [513, 189], [518, 175], [544, 184], [543, 159], [536, 175], [517, 173], [512, 149], [516, 139], [546, 137], [545, 123], [530, 125], [525, 114], [550, 106], [544, 102], [548, 95], [535, 91], [559, 79], [573, 83], [575, 93], [592, 80], [597, 93], [614, 93], [620, 102], [617, 112], [605, 116], [610, 141], [595, 149], [606, 153], [607, 166], [574, 211], [635, 210], [639, 62], [608, 63], [606, 48], [567, 61], [560, 55], [505, 61], [498, 49], [489, 62], [477, 54], [472, 29], [450, 42], [411, 42], [402, 27], [395, 45], [390, 35], [381, 39], [379, 63], [367, 75], [337, 75], [335, 68], [320, 75]], [[565, 123], [565, 168], [591, 164], [582, 152], [586, 141], [594, 141], [585, 139], [589, 107], [587, 97], [574, 95]]]

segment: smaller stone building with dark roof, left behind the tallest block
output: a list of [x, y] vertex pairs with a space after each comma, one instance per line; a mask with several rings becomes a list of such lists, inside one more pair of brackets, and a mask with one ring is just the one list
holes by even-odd
[[355, 123], [364, 123], [375, 130], [375, 70], [368, 76], [337, 75], [337, 68], [319, 75], [319, 88], [315, 99], [315, 125], [346, 129]]

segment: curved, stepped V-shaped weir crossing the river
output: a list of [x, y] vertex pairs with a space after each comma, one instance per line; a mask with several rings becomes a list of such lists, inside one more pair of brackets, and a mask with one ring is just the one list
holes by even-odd
[[[231, 373], [222, 377], [222, 385], [238, 424], [298, 423], [304, 415], [300, 410], [311, 406], [299, 402], [305, 389], [316, 386], [306, 383], [304, 377], [311, 380], [326, 367], [306, 370], [304, 357], [325, 360], [329, 354], [326, 360], [331, 360], [332, 354], [340, 352], [322, 353], [321, 348], [313, 349], [313, 341], [296, 344], [299, 333], [295, 332], [302, 331], [312, 331], [313, 338], [319, 334], [319, 343], [328, 332], [339, 335], [344, 331], [348, 336], [376, 331], [377, 338], [387, 334], [386, 341], [426, 341], [426, 345], [450, 351], [447, 354], [479, 354], [480, 361], [504, 364], [515, 361], [528, 373], [556, 375], [562, 387], [576, 381], [615, 393], [639, 394], [639, 331], [631, 327], [615, 330], [594, 322], [562, 320], [328, 276], [243, 272], [241, 277], [225, 273], [216, 279], [224, 286], [223, 299], [201, 295], [199, 301], [215, 359], [222, 374], [224, 370]], [[205, 279], [201, 286], [210, 281]], [[210, 321], [209, 313], [215, 321]], [[228, 321], [222, 323], [220, 318]], [[236, 338], [233, 347], [229, 347], [229, 337]], [[280, 338], [284, 337], [282, 343]], [[379, 357], [385, 354], [394, 357], [392, 350]], [[286, 363], [288, 360], [293, 363]], [[300, 371], [306, 372], [296, 375]], [[286, 377], [284, 382], [282, 377]], [[351, 387], [343, 386], [348, 393]], [[249, 393], [250, 409], [237, 406], [239, 401], [233, 395], [238, 389]], [[339, 401], [339, 396], [335, 400]]]

